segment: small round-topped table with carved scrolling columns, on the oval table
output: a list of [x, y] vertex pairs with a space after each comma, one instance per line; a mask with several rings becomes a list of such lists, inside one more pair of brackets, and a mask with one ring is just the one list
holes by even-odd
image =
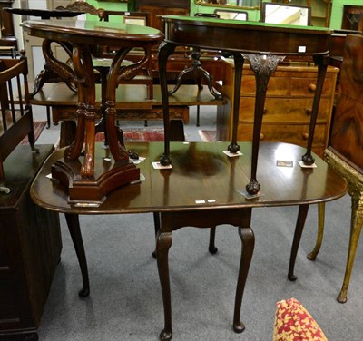
[[[77, 131], [74, 142], [64, 151], [61, 160], [52, 169], [56, 179], [69, 189], [69, 200], [100, 202], [115, 187], [139, 179], [139, 170], [129, 161], [122, 132], [115, 127], [116, 88], [121, 81], [132, 79], [145, 60], [122, 67], [123, 59], [132, 48], [149, 49], [162, 41], [162, 33], [152, 27], [136, 24], [96, 21], [25, 21], [23, 29], [29, 35], [44, 38], [43, 54], [50, 70], [61, 76], [65, 83], [74, 83], [78, 92]], [[72, 60], [73, 67], [55, 59], [53, 43], [60, 44]], [[94, 155], [95, 127], [95, 74], [92, 48], [119, 46], [107, 74], [105, 124], [110, 155], [113, 162], [106, 167], [97, 163]], [[84, 151], [83, 151], [84, 143]], [[83, 154], [81, 156], [81, 154]], [[82, 161], [81, 161], [82, 159]]]

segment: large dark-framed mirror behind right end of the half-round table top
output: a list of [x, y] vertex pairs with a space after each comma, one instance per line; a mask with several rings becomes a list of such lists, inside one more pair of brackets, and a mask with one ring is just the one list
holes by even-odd
[[281, 3], [262, 3], [260, 21], [269, 24], [311, 25], [311, 7]]

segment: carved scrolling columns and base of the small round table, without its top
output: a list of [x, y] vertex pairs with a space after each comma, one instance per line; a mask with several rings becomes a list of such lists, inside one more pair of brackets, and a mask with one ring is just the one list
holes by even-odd
[[[114, 158], [114, 165], [103, 167], [103, 172], [95, 174], [95, 75], [93, 73], [93, 58], [89, 46], [86, 44], [72, 45], [72, 62], [74, 69], [56, 60], [51, 53], [52, 41], [44, 40], [44, 56], [49, 69], [61, 74], [64, 79], [76, 84], [78, 91], [77, 102], [77, 130], [72, 144], [64, 150], [64, 160], [56, 161], [52, 168], [52, 176], [60, 180], [69, 188], [71, 202], [89, 201], [102, 202], [103, 197], [115, 187], [138, 180], [140, 171], [129, 162], [128, 152], [124, 146], [119, 146], [114, 125], [115, 83], [123, 57], [130, 49], [120, 50], [116, 55], [114, 67], [110, 69], [112, 86], [107, 89], [110, 105], [106, 113], [110, 119], [106, 120], [106, 134], [110, 144], [110, 151]], [[84, 151], [83, 151], [84, 145]], [[82, 155], [83, 154], [83, 155]], [[79, 158], [83, 157], [82, 165]], [[99, 160], [99, 162], [103, 162]]]

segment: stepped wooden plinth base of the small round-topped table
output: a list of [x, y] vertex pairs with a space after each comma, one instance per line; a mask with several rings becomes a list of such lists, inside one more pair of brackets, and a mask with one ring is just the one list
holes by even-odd
[[82, 161], [58, 160], [52, 166], [52, 179], [68, 189], [69, 203], [101, 204], [105, 196], [123, 185], [140, 180], [140, 170], [132, 163], [118, 163], [109, 158], [95, 158], [94, 176], [81, 177]]

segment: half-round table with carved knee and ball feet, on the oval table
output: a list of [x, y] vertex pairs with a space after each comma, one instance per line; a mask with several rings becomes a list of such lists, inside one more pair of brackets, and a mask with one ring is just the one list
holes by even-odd
[[[171, 164], [169, 150], [169, 99], [167, 91], [166, 65], [168, 57], [179, 45], [218, 50], [230, 53], [235, 63], [235, 89], [233, 98], [233, 127], [231, 144], [228, 150], [236, 153], [240, 146], [237, 143], [238, 118], [240, 110], [240, 80], [242, 65], [246, 59], [256, 74], [256, 103], [253, 129], [253, 152], [251, 161], [250, 182], [246, 190], [256, 194], [260, 190], [257, 180], [257, 163], [260, 143], [264, 102], [270, 75], [285, 55], [312, 56], [318, 64], [318, 80], [309, 124], [307, 149], [302, 154], [302, 161], [311, 165], [314, 158], [311, 154], [315, 123], [319, 111], [319, 100], [329, 62], [329, 36], [332, 31], [326, 28], [300, 27], [295, 25], [252, 23], [238, 20], [222, 20], [204, 17], [162, 16], [165, 33], [164, 42], [159, 49], [159, 70], [162, 86], [162, 101], [165, 126], [165, 151], [162, 164]], [[239, 36], [239, 39], [236, 39]]]

